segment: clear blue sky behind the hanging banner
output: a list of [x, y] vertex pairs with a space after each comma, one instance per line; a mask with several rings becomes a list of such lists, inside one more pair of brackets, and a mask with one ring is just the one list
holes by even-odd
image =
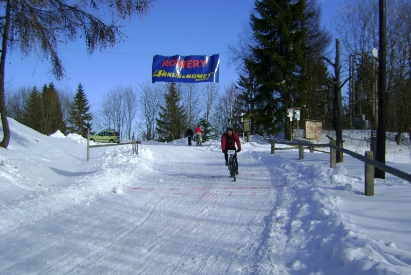
[[[32, 54], [22, 56], [13, 51], [7, 57], [8, 89], [37, 86], [53, 82], [74, 94], [79, 83], [91, 104], [119, 85], [138, 87], [151, 83], [153, 56], [220, 54], [221, 89], [237, 80], [235, 67], [228, 67], [228, 45], [235, 44], [242, 27], [249, 22], [253, 0], [178, 0], [158, 1], [143, 17], [134, 18], [122, 29], [128, 36], [114, 48], [87, 54], [85, 43], [59, 48], [67, 78], [57, 81], [50, 74], [50, 64]], [[323, 22], [328, 23], [335, 9], [333, 0], [320, 2]], [[324, 10], [325, 9], [325, 10]], [[154, 84], [153, 84], [154, 85]], [[7, 88], [7, 86], [6, 86]]]

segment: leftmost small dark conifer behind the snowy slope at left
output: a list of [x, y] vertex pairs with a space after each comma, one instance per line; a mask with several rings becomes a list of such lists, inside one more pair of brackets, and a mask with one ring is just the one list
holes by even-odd
[[41, 132], [42, 108], [41, 94], [34, 86], [23, 110], [22, 123], [37, 132]]

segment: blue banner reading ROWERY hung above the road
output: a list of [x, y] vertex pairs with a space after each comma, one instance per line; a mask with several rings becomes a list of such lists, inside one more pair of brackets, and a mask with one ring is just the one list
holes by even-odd
[[164, 82], [218, 82], [220, 55], [173, 56], [156, 55], [153, 59], [153, 83]]

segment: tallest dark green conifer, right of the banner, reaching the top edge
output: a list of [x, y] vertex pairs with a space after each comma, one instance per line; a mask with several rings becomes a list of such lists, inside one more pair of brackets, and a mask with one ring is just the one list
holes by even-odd
[[285, 125], [285, 135], [291, 131], [285, 123], [286, 109], [302, 89], [306, 32], [304, 0], [264, 0], [255, 2], [251, 28], [256, 41], [252, 56], [245, 67], [258, 82], [255, 95], [258, 123], [265, 134], [275, 134], [276, 121]]

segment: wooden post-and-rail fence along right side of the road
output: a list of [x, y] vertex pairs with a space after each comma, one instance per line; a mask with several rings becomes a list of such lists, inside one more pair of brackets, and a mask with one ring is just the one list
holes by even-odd
[[[361, 160], [362, 162], [364, 162], [364, 171], [365, 171], [364, 172], [365, 173], [365, 192], [364, 193], [366, 196], [374, 195], [374, 170], [375, 170], [374, 168], [378, 168], [382, 171], [385, 171], [386, 173], [389, 173], [391, 175], [397, 176], [401, 179], [411, 182], [410, 174], [407, 174], [401, 170], [387, 166], [384, 163], [374, 160], [372, 151], [365, 152], [365, 155], [363, 156], [358, 153], [349, 151], [347, 149], [344, 149], [344, 148], [341, 148], [340, 146], [335, 145], [334, 140], [331, 140], [330, 144], [313, 144], [313, 143], [308, 143], [308, 142], [276, 141], [276, 140], [266, 139], [266, 138], [265, 140], [271, 143], [271, 154], [274, 154], [275, 150], [295, 149], [296, 147], [298, 147], [300, 159], [304, 159], [304, 149], [308, 149], [310, 150], [310, 152], [313, 152], [313, 151], [320, 151], [320, 150], [315, 150], [314, 147], [329, 148], [329, 152], [325, 152], [325, 151], [320, 151], [320, 152], [330, 154], [330, 168], [335, 168], [335, 166], [337, 165], [337, 154], [335, 153], [336, 151], [343, 152], [344, 154], [347, 154], [353, 158]], [[276, 143], [291, 145], [293, 147], [275, 148]]]

